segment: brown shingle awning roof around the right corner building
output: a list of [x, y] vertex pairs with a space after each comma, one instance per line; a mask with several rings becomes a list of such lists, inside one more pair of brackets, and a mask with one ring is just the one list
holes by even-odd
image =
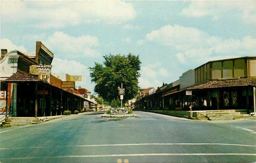
[[192, 87], [190, 89], [209, 89], [209, 88], [221, 88], [221, 87], [236, 87], [236, 86], [249, 86], [256, 85], [256, 78], [244, 78], [244, 79], [229, 79], [229, 80], [216, 80], [207, 81]]

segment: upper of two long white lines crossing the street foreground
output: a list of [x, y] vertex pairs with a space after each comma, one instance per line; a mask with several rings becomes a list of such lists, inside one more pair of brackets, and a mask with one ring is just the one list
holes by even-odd
[[256, 145], [244, 145], [244, 144], [225, 144], [225, 143], [144, 143], [144, 144], [99, 144], [99, 145], [64, 145], [64, 146], [30, 146], [30, 147], [9, 147], [0, 148], [4, 149], [22, 149], [22, 148], [50, 148], [50, 147], [99, 147], [99, 146], [132, 146], [132, 145], [234, 145], [234, 146], [250, 146], [256, 147]]

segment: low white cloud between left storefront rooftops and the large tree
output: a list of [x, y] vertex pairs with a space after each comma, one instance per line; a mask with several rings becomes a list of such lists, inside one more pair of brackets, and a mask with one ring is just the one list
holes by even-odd
[[75, 60], [62, 60], [56, 57], [52, 60], [52, 74], [82, 75], [82, 81], [76, 81], [76, 86], [92, 91], [93, 84], [90, 81], [90, 72], [87, 68], [87, 66]]

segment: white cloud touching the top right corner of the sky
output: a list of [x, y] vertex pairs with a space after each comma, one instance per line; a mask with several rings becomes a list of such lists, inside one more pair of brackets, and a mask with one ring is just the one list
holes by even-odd
[[238, 15], [246, 23], [256, 22], [256, 1], [193, 1], [180, 14], [186, 17], [203, 17], [211, 15], [218, 20], [228, 11]]

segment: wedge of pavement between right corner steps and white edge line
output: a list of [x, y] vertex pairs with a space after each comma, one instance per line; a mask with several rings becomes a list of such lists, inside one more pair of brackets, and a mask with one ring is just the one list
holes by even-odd
[[234, 127], [240, 130], [248, 131], [256, 135], [256, 117], [237, 119], [237, 120], [226, 120], [226, 121], [207, 121], [209, 123], [223, 124], [230, 127]]

